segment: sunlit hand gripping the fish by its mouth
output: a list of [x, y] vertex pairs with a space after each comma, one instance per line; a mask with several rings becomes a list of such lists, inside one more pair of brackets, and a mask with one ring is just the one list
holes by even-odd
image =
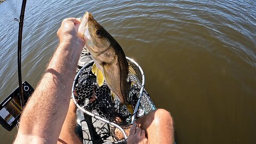
[[77, 34], [80, 22], [80, 19], [76, 18], [67, 18], [62, 21], [61, 27], [57, 31], [60, 44], [71, 44], [82, 51], [85, 42], [84, 39], [80, 38]]

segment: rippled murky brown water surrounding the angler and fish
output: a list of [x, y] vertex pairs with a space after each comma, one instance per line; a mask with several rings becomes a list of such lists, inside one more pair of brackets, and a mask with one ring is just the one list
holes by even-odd
[[[20, 7], [0, 4], [1, 101], [18, 86], [12, 19]], [[23, 81], [36, 87], [61, 21], [85, 11], [142, 67], [155, 105], [174, 118], [177, 143], [256, 142], [256, 1], [28, 1]], [[0, 143], [16, 133], [1, 127]]]

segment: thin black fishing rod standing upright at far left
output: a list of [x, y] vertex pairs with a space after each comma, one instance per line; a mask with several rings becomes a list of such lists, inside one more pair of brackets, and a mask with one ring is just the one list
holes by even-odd
[[19, 79], [19, 92], [20, 92], [20, 103], [21, 107], [25, 106], [24, 104], [24, 94], [23, 94], [23, 86], [22, 86], [22, 78], [21, 78], [21, 44], [22, 44], [22, 30], [23, 30], [23, 20], [25, 14], [27, 0], [22, 1], [20, 19], [15, 18], [14, 20], [19, 22], [19, 36], [18, 36], [18, 79]]

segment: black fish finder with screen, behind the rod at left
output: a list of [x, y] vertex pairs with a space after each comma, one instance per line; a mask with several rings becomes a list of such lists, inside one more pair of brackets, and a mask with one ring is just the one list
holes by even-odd
[[[28, 82], [22, 83], [24, 103], [34, 92], [33, 87]], [[19, 87], [14, 90], [1, 104], [0, 104], [0, 124], [8, 131], [11, 131], [17, 125], [22, 107], [20, 103]]]

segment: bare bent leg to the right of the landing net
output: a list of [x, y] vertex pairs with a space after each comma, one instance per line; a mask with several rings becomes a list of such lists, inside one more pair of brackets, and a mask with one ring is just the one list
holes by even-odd
[[[146, 136], [149, 143], [173, 143], [174, 142], [174, 128], [173, 119], [169, 111], [164, 109], [157, 109], [151, 111], [149, 114], [139, 118], [136, 123], [138, 127], [146, 131]], [[125, 132], [129, 135], [130, 129]], [[123, 134], [119, 129], [115, 129], [115, 134], [118, 139], [123, 138]]]

